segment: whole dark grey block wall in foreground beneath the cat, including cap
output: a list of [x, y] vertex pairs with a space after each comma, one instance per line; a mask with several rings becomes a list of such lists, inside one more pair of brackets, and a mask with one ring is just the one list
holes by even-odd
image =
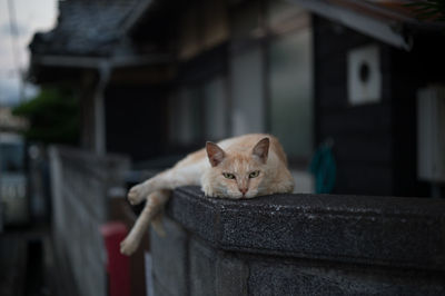
[[176, 190], [151, 231], [161, 295], [444, 295], [445, 200]]

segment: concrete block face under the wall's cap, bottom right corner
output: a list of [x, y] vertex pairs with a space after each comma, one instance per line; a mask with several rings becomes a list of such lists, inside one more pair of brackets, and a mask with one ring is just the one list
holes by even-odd
[[375, 266], [285, 258], [249, 260], [245, 295], [444, 295], [443, 277]]

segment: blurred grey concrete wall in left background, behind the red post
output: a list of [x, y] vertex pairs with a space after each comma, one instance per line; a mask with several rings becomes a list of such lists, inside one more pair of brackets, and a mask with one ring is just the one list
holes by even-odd
[[70, 273], [66, 295], [106, 296], [106, 249], [99, 227], [109, 217], [108, 191], [123, 185], [126, 158], [78, 149], [50, 150], [55, 255]]

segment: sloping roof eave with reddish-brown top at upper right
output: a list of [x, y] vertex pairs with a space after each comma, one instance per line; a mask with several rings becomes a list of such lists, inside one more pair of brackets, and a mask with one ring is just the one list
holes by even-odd
[[[409, 0], [290, 0], [388, 45], [411, 50], [417, 34], [445, 31], [444, 22], [419, 20]], [[439, 34], [437, 34], [439, 36]]]

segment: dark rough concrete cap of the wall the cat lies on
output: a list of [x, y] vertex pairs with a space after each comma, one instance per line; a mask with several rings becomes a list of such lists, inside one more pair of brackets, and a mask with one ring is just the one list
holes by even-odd
[[445, 200], [175, 190], [167, 214], [225, 250], [445, 270]]

